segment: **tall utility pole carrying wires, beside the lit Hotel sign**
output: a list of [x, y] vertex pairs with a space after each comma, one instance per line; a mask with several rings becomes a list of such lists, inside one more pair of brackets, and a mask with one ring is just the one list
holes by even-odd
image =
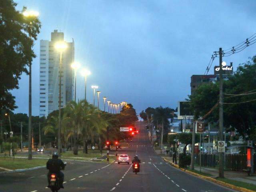
[[[222, 48], [219, 50], [220, 57], [220, 103], [219, 103], [219, 141], [223, 141], [223, 78], [222, 78]], [[219, 177], [224, 178], [224, 153], [219, 153]]]

